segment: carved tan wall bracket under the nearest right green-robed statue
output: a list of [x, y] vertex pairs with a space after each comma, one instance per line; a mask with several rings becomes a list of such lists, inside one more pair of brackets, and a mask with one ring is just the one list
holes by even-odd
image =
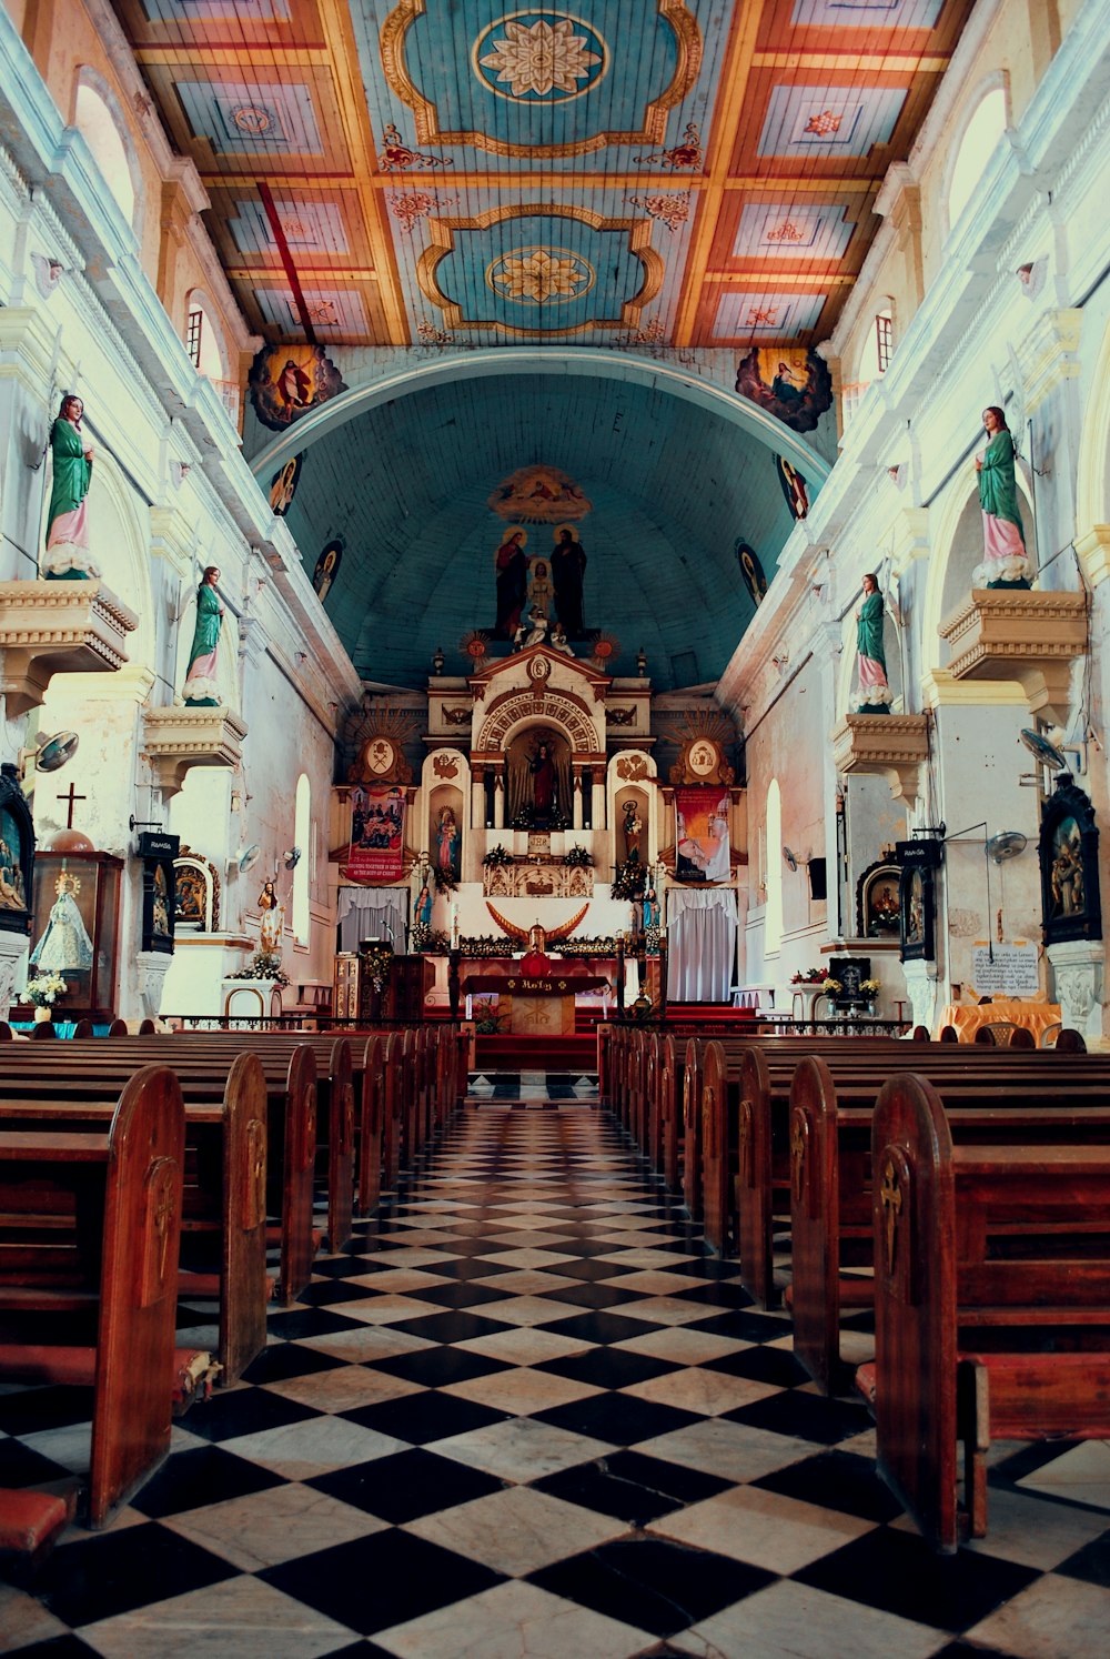
[[1067, 725], [1072, 662], [1087, 650], [1087, 594], [976, 587], [939, 632], [954, 680], [1017, 680], [1030, 713]]

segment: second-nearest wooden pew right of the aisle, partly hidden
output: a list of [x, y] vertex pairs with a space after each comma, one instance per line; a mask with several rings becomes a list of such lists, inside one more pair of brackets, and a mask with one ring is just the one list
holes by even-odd
[[[996, 1073], [997, 1075], [997, 1073]], [[878, 1078], [864, 1093], [878, 1095]], [[1007, 1098], [1009, 1097], [1009, 1098]], [[1044, 1145], [1060, 1136], [1083, 1145], [1110, 1145], [1110, 1100], [1103, 1085], [1078, 1095], [1040, 1083], [1035, 1100], [999, 1093], [984, 1077], [979, 1088], [946, 1085], [949, 1133], [959, 1145]], [[795, 1355], [830, 1394], [840, 1380], [843, 1307], [873, 1307], [873, 1277], [845, 1269], [873, 1267], [871, 1103], [853, 1090], [853, 1105], [838, 1102], [833, 1073], [820, 1058], [803, 1060], [790, 1092], [790, 1246]]]

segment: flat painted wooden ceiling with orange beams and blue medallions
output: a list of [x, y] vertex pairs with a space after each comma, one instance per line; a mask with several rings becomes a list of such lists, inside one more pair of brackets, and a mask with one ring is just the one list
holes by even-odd
[[270, 340], [823, 340], [972, 0], [114, 0]]

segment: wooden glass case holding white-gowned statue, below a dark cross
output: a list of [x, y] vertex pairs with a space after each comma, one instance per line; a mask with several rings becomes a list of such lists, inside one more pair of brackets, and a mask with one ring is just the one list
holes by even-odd
[[121, 876], [123, 859], [111, 853], [51, 849], [35, 858], [30, 966], [65, 979], [61, 1019], [106, 1020], [116, 1012]]

